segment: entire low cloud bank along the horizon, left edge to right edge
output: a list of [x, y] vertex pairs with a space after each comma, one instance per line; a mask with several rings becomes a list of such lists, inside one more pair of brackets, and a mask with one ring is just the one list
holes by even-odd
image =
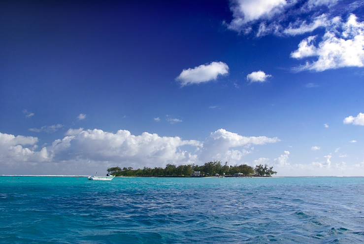
[[[364, 162], [353, 165], [345, 162], [333, 164], [332, 154], [323, 156], [322, 161], [310, 164], [291, 163], [291, 152], [288, 150], [274, 159], [244, 161], [244, 156], [252, 153], [255, 146], [278, 142], [278, 138], [246, 137], [225, 129], [211, 132], [204, 141], [199, 141], [147, 132], [136, 136], [128, 130], [111, 133], [79, 128], [68, 129], [63, 139], [56, 139], [51, 145], [39, 149], [36, 137], [0, 133], [0, 164], [3, 166], [3, 174], [14, 174], [14, 170], [18, 174], [30, 174], [29, 172], [34, 172], [32, 168], [39, 172], [39, 169], [49, 167], [56, 169], [56, 172], [91, 174], [100, 167], [164, 167], [166, 164], [203, 164], [218, 160], [228, 162], [229, 165], [269, 164], [275, 167], [279, 175], [336, 175], [338, 170], [345, 175], [362, 175]], [[312, 151], [320, 149], [319, 146], [311, 147]], [[337, 154], [339, 150], [337, 148], [334, 153]], [[345, 154], [336, 156], [346, 157]]]

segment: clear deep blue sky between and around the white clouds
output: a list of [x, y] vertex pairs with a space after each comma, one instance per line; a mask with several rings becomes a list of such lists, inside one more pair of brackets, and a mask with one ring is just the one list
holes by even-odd
[[[255, 146], [241, 162], [273, 160], [285, 150], [292, 164], [325, 161], [329, 154], [334, 162], [339, 147], [347, 164], [363, 162], [364, 127], [343, 124], [364, 111], [363, 68], [293, 72], [306, 60], [290, 53], [325, 29], [297, 36], [238, 33], [226, 24], [232, 3], [1, 2], [0, 132], [37, 137], [40, 148], [69, 128], [200, 141], [223, 128], [281, 140]], [[350, 13], [364, 21], [363, 8]], [[343, 12], [343, 22], [348, 15]], [[228, 64], [229, 74], [183, 87], [176, 80], [182, 70], [213, 61]], [[257, 70], [272, 77], [249, 83], [246, 75]], [[34, 116], [26, 118], [24, 109]], [[78, 120], [80, 113], [86, 119]], [[63, 128], [29, 131], [55, 124]], [[312, 151], [315, 145], [321, 150]]]

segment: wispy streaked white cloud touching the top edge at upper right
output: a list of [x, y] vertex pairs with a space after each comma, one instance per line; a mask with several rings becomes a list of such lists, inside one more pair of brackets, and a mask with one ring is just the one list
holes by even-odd
[[361, 0], [339, 6], [340, 0], [231, 0], [232, 21], [227, 28], [240, 34], [260, 37], [301, 35], [318, 28], [328, 28], [340, 17], [359, 9]]

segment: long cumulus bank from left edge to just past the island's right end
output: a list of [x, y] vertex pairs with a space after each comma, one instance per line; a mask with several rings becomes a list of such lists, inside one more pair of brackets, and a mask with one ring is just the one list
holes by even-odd
[[87, 165], [99, 165], [101, 168], [115, 165], [155, 167], [168, 163], [200, 164], [210, 160], [235, 164], [241, 163], [242, 157], [253, 150], [252, 145], [277, 141], [279, 139], [264, 136], [244, 137], [224, 129], [212, 132], [204, 141], [199, 141], [147, 132], [132, 135], [127, 130], [111, 133], [79, 128], [69, 129], [63, 139], [56, 139], [39, 150], [35, 137], [0, 134], [0, 165], [20, 167], [19, 163], [31, 163], [40, 169], [46, 162], [75, 170], [82, 165], [83, 171], [88, 171]]

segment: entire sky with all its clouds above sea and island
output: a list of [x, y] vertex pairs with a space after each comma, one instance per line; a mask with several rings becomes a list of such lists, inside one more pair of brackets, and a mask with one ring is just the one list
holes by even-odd
[[0, 174], [364, 176], [364, 0], [1, 1], [0, 34]]

